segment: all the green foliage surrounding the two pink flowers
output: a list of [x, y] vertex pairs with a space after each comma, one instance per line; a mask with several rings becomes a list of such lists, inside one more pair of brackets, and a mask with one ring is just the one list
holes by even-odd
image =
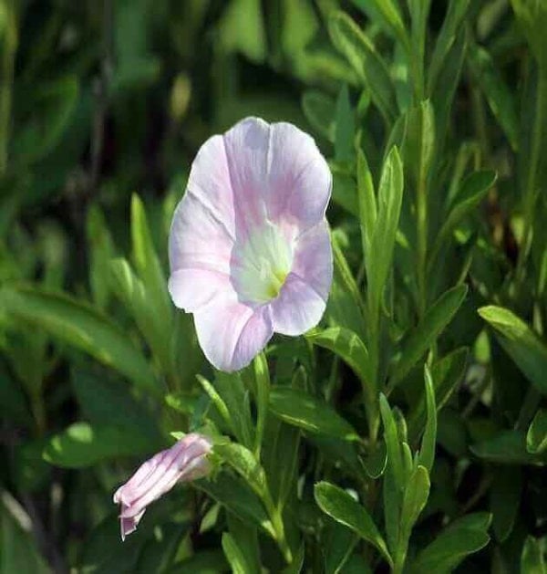
[[[0, 573], [545, 571], [545, 29], [542, 0], [0, 0]], [[335, 278], [228, 375], [166, 245], [246, 115], [324, 151]], [[122, 544], [116, 486], [196, 430], [212, 476]]]

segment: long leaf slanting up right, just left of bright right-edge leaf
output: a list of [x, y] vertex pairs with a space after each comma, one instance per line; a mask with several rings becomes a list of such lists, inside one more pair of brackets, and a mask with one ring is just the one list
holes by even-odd
[[415, 329], [410, 330], [400, 344], [400, 357], [393, 368], [390, 386], [402, 381], [440, 333], [454, 317], [467, 293], [467, 286], [452, 287], [428, 308]]

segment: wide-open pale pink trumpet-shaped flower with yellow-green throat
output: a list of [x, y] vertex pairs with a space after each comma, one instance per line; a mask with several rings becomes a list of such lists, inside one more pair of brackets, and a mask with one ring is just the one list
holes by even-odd
[[274, 332], [322, 317], [331, 187], [315, 141], [290, 123], [247, 118], [201, 146], [170, 228], [169, 290], [217, 369], [242, 369]]

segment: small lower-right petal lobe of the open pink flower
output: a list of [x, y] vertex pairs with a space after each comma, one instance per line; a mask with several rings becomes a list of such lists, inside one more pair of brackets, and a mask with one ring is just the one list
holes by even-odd
[[269, 305], [274, 331], [282, 335], [301, 335], [317, 325], [325, 312], [325, 298], [314, 287], [290, 273], [279, 296]]

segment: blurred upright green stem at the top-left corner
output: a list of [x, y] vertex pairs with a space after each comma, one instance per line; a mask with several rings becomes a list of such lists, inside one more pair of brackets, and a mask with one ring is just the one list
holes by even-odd
[[12, 92], [14, 84], [17, 23], [15, 0], [0, 0], [5, 12], [4, 46], [0, 69], [0, 175], [7, 170], [7, 149], [10, 136]]

